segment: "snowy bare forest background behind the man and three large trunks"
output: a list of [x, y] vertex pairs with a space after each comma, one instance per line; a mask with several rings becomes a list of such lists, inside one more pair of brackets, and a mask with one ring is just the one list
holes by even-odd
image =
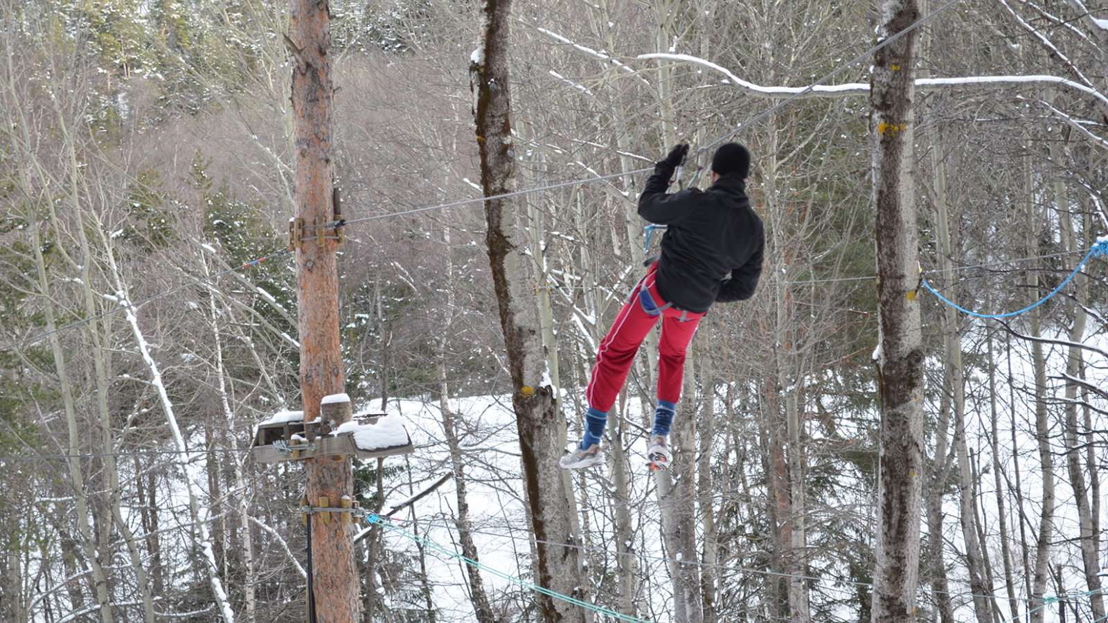
[[[247, 451], [257, 422], [297, 407], [295, 275], [277, 256], [195, 284], [286, 245], [287, 7], [0, 11], [0, 621], [302, 621], [302, 471]], [[358, 496], [387, 511], [440, 483], [394, 515], [404, 529], [527, 578], [480, 204], [389, 216], [480, 196], [478, 7], [331, 11], [337, 183], [348, 218], [380, 216], [348, 226], [340, 248], [347, 389], [406, 415], [419, 443], [358, 464]], [[609, 469], [573, 477], [576, 596], [653, 621], [869, 620], [869, 60], [831, 81], [845, 86], [747, 121], [868, 50], [876, 21], [866, 2], [516, 3], [521, 188], [640, 170], [740, 127], [767, 224], [758, 294], [714, 308], [687, 365], [674, 442], [697, 559], [667, 558], [673, 507], [642, 467], [648, 344], [612, 413]], [[921, 268], [971, 309], [1022, 308], [1108, 233], [1108, 8], [955, 3], [921, 28]], [[596, 344], [642, 273], [643, 177], [526, 197], [568, 438]], [[1105, 620], [1104, 279], [1090, 259], [999, 320], [921, 292], [921, 621]], [[474, 582], [380, 530], [360, 537], [367, 622], [537, 616], [516, 585]], [[695, 607], [675, 614], [690, 578]]]

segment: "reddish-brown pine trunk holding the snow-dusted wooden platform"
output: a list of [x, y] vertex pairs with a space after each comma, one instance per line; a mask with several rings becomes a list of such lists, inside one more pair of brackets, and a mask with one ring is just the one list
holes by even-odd
[[[330, 18], [327, 0], [294, 0], [291, 32], [286, 42], [293, 53], [293, 142], [296, 207], [306, 225], [334, 218], [331, 188]], [[296, 298], [300, 330], [300, 392], [305, 421], [319, 417], [324, 396], [345, 390], [342, 356], [339, 348], [337, 242], [317, 244], [318, 229], [305, 229], [306, 237], [296, 255]], [[327, 232], [334, 235], [332, 231]], [[342, 419], [342, 418], [340, 418]], [[324, 431], [342, 423], [325, 421]], [[308, 459], [308, 500], [319, 505], [338, 505], [352, 497], [349, 460], [332, 457]], [[311, 522], [314, 591], [318, 623], [352, 623], [358, 617], [358, 571], [353, 561], [353, 523], [331, 515]]]

